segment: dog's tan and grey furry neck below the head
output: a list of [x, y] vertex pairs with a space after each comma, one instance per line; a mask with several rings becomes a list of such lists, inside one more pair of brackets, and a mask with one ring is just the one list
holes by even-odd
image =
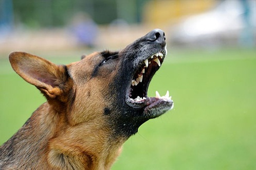
[[[86, 124], [69, 125], [66, 113], [58, 113], [48, 102], [42, 104], [23, 127], [2, 147], [3, 153], [14, 154], [11, 167], [23, 162], [22, 168], [40, 169], [109, 169], [120, 154], [124, 140], [110, 142], [109, 130]], [[86, 129], [83, 134], [79, 129]], [[22, 135], [21, 135], [22, 134]], [[104, 136], [99, 136], [104, 134]], [[86, 137], [84, 137], [86, 136]], [[7, 153], [12, 145], [19, 152]], [[6, 146], [8, 145], [8, 146]], [[26, 155], [23, 155], [26, 153]], [[22, 154], [22, 156], [19, 156]], [[47, 155], [47, 157], [42, 157]], [[27, 157], [27, 158], [26, 158]], [[33, 157], [34, 161], [29, 161]], [[22, 160], [17, 160], [21, 158]], [[15, 159], [15, 160], [14, 160]], [[25, 162], [24, 162], [25, 161]], [[15, 165], [15, 162], [18, 162]]]

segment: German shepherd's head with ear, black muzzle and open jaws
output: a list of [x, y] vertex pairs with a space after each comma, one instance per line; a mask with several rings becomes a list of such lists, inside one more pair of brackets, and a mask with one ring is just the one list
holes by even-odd
[[65, 113], [69, 125], [94, 122], [128, 138], [173, 107], [169, 94], [147, 95], [166, 54], [164, 32], [155, 29], [121, 51], [95, 52], [66, 66], [24, 52], [9, 58], [17, 74], [36, 86], [56, 112]]

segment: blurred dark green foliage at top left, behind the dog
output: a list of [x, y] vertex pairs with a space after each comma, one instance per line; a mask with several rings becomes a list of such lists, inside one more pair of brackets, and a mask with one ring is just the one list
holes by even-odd
[[13, 11], [16, 22], [35, 28], [66, 25], [79, 12], [87, 13], [97, 24], [115, 19], [137, 23], [144, 2], [147, 0], [23, 0], [13, 1]]

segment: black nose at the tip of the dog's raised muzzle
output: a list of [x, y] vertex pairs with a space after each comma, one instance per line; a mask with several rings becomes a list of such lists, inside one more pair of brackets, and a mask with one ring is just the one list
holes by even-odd
[[160, 29], [152, 30], [147, 35], [145, 35], [145, 37], [147, 38], [147, 40], [157, 42], [162, 47], [166, 46], [166, 35]]

